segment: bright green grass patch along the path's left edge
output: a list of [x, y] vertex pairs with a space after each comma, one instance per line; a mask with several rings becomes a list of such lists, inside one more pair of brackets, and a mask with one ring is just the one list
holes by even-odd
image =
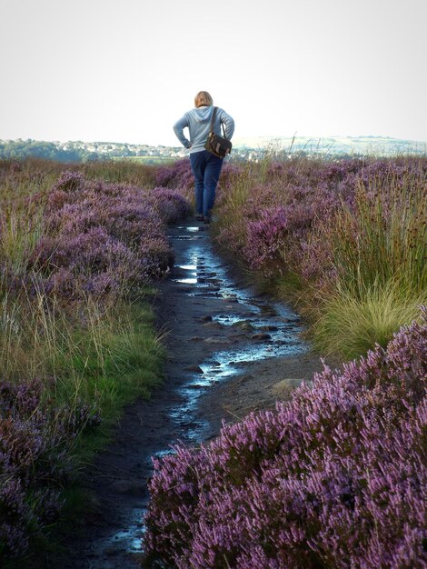
[[88, 310], [87, 327], [68, 331], [61, 346], [59, 369], [69, 376], [56, 397], [69, 401], [83, 395], [96, 401], [104, 418], [111, 418], [138, 395], [148, 395], [159, 383], [163, 348], [154, 333], [151, 307], [142, 302]]

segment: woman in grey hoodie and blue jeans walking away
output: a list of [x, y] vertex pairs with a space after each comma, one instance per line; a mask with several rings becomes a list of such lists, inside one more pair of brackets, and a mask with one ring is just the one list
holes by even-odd
[[[209, 224], [214, 207], [216, 185], [223, 167], [223, 158], [204, 149], [211, 128], [214, 101], [207, 91], [200, 91], [194, 97], [195, 108], [179, 119], [174, 125], [174, 133], [185, 148], [190, 149], [190, 162], [195, 181], [195, 214], [197, 221]], [[230, 115], [218, 107], [215, 116], [214, 133], [221, 135], [221, 125], [225, 128], [225, 138], [233, 136], [234, 121]], [[184, 136], [188, 127], [190, 140]]]

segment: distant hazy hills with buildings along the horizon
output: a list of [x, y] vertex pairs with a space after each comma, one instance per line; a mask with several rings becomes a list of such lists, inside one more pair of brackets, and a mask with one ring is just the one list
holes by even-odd
[[[257, 136], [233, 138], [232, 158], [257, 160], [266, 152], [331, 156], [352, 155], [427, 155], [427, 143], [381, 136]], [[144, 163], [159, 163], [187, 155], [182, 146], [130, 145], [114, 142], [45, 142], [37, 140], [0, 140], [0, 159], [46, 158], [59, 162], [87, 162], [129, 158]]]

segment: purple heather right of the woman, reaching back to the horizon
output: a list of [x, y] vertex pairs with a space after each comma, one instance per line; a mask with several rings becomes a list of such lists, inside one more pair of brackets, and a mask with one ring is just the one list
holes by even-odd
[[[233, 165], [234, 169], [239, 166]], [[391, 205], [398, 195], [412, 195], [414, 191], [427, 187], [427, 163], [416, 160], [406, 161], [362, 161], [361, 159], [341, 160], [336, 163], [317, 163], [307, 161], [303, 165], [272, 162], [264, 171], [251, 170], [252, 178], [246, 179], [241, 168], [241, 175], [224, 171], [220, 190], [219, 223], [215, 235], [218, 243], [232, 248], [232, 253], [243, 255], [247, 263], [252, 263], [252, 248], [248, 244], [251, 235], [255, 248], [269, 246], [263, 241], [263, 232], [254, 239], [253, 232], [248, 234], [253, 222], [263, 222], [264, 210], [268, 209], [272, 218], [274, 209], [283, 212], [287, 218], [288, 233], [286, 239], [286, 266], [297, 274], [323, 278], [323, 271], [330, 270], [330, 255], [312, 254], [322, 248], [324, 235], [318, 228], [325, 226], [332, 232], [334, 216], [348, 208], [357, 216], [356, 195], [362, 192], [367, 196], [379, 196], [382, 202], [381, 219], [387, 223]], [[228, 186], [228, 178], [233, 184]], [[261, 179], [260, 179], [261, 177]], [[242, 194], [241, 187], [244, 187]], [[402, 198], [403, 199], [403, 198]], [[372, 210], [375, 204], [372, 202]], [[280, 215], [277, 213], [277, 215]], [[380, 215], [380, 214], [379, 214]], [[422, 225], [422, 220], [421, 220]], [[280, 234], [280, 232], [279, 232]], [[296, 238], [295, 238], [296, 237]], [[280, 237], [283, 238], [282, 235]], [[328, 244], [331, 249], [331, 244]], [[307, 255], [307, 259], [305, 259]], [[315, 266], [313, 266], [315, 260]], [[283, 261], [284, 263], [284, 261]], [[265, 275], [267, 278], [269, 275]]]

